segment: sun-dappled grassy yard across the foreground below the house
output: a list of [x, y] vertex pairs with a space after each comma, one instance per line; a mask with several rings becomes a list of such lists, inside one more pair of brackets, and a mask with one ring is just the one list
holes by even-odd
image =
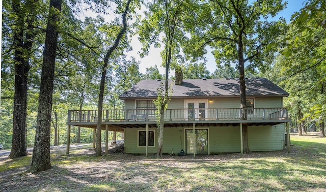
[[[53, 169], [15, 175], [30, 163], [29, 156], [0, 162], [0, 186], [8, 191], [326, 191], [325, 151], [326, 138], [291, 135], [291, 154], [212, 155], [207, 162], [52, 154]], [[17, 187], [21, 181], [29, 187]]]

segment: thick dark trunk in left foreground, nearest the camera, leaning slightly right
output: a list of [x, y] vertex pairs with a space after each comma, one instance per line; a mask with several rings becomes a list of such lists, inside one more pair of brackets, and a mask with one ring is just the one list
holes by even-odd
[[[56, 50], [62, 0], [50, 0], [43, 52], [39, 108], [37, 113], [35, 143], [30, 172], [35, 173], [51, 168], [50, 162], [50, 126], [52, 110], [53, 79], [55, 75]], [[59, 11], [59, 12], [58, 12]]]

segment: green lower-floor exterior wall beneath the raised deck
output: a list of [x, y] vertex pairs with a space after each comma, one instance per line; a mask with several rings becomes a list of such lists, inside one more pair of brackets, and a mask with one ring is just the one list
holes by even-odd
[[[165, 127], [162, 152], [172, 153], [173, 151], [173, 153], [178, 154], [181, 149], [185, 151], [186, 129], [192, 130], [192, 127]], [[209, 154], [240, 152], [239, 126], [198, 126], [196, 127], [196, 129], [208, 129]], [[144, 154], [146, 152], [145, 147], [138, 147], [138, 130], [145, 131], [145, 129], [125, 129], [124, 146], [126, 153]], [[148, 147], [148, 153], [156, 153], [158, 144], [158, 133], [156, 129], [149, 130], [155, 130], [155, 146]], [[285, 142], [284, 132], [284, 124], [273, 126], [249, 126], [249, 148], [251, 151], [283, 150]]]

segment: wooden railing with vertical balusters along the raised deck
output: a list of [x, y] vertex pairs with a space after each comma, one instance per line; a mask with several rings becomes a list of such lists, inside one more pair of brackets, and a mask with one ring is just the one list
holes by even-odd
[[[246, 114], [241, 118], [241, 112]], [[69, 110], [68, 122], [97, 122], [97, 110]], [[247, 117], [246, 117], [247, 116]], [[167, 109], [165, 121], [188, 120], [283, 120], [286, 108]], [[106, 109], [102, 121], [155, 121], [154, 109]]]

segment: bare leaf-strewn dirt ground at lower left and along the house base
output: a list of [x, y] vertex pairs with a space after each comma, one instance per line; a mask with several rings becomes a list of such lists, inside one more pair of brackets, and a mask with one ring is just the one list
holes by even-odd
[[[318, 137], [318, 136], [316, 136]], [[151, 164], [155, 162], [155, 166], [169, 166], [188, 169], [192, 164], [198, 162], [228, 162], [230, 159], [238, 158], [255, 158], [267, 156], [285, 156], [288, 155], [286, 149], [283, 151], [272, 152], [254, 152], [246, 155], [239, 153], [220, 154], [220, 155], [198, 155], [194, 159], [192, 155], [174, 156], [164, 155], [160, 161], [156, 161], [156, 155], [144, 154], [134, 155], [122, 152], [121, 145], [110, 145], [109, 154], [103, 154], [103, 157], [95, 157], [95, 151], [89, 148], [73, 149], [70, 155], [65, 155], [65, 148], [53, 149], [51, 157], [57, 158], [52, 164], [52, 169], [39, 172], [36, 174], [27, 173], [29, 166], [18, 169], [9, 169], [0, 172], [0, 191], [89, 191], [92, 185], [98, 185], [103, 182], [124, 183], [150, 183], [153, 182], [151, 175], [143, 177], [142, 172], [135, 171], [135, 166], [139, 164]], [[295, 153], [292, 148], [292, 153]], [[104, 151], [104, 149], [102, 149]], [[85, 158], [85, 156], [88, 156]], [[78, 161], [78, 157], [84, 156]], [[90, 159], [88, 161], [87, 159]], [[71, 162], [70, 159], [73, 159]], [[0, 161], [11, 161], [8, 157], [3, 157]], [[70, 161], [65, 164], [65, 161]], [[56, 163], [59, 162], [59, 163]], [[186, 162], [186, 163], [183, 163]], [[142, 169], [137, 167], [137, 170]], [[144, 167], [143, 169], [146, 169]], [[126, 173], [117, 175], [117, 173]], [[130, 189], [130, 188], [129, 188]], [[107, 189], [115, 190], [115, 189]], [[135, 186], [135, 190], [139, 190]], [[94, 188], [94, 191], [101, 191]], [[106, 189], [105, 189], [106, 191]]]

